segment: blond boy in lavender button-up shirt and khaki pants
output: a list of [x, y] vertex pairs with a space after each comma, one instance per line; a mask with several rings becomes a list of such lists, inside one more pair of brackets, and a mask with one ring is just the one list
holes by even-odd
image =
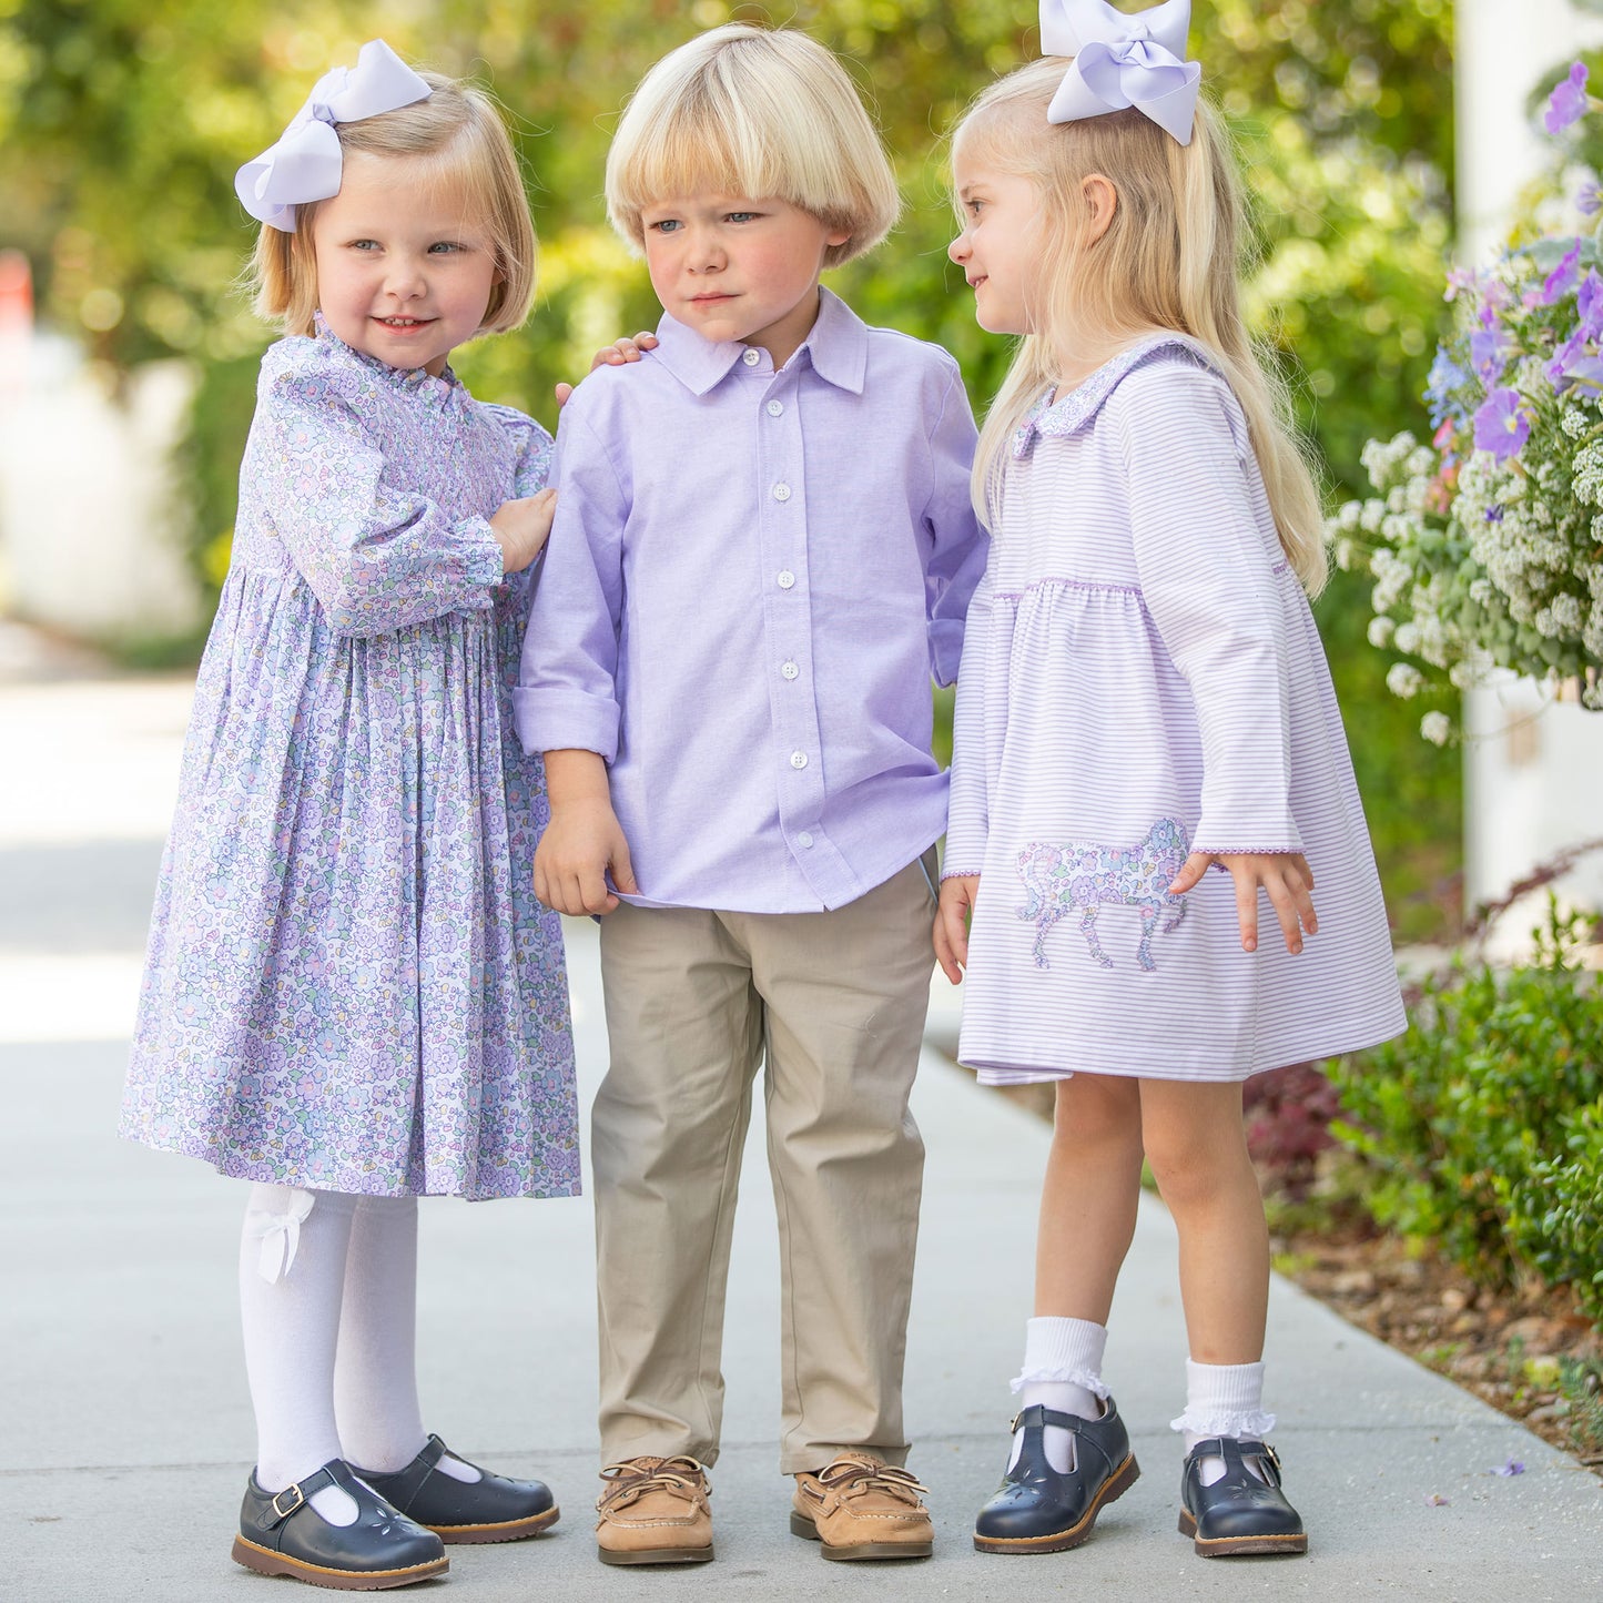
[[601, 914], [593, 1109], [606, 1563], [713, 1557], [720, 1347], [758, 1061], [782, 1266], [781, 1467], [826, 1558], [930, 1552], [901, 1467], [951, 683], [984, 567], [975, 426], [936, 346], [822, 268], [894, 221], [840, 64], [721, 27], [608, 159], [665, 316], [579, 386], [515, 705], [551, 822], [535, 891]]

